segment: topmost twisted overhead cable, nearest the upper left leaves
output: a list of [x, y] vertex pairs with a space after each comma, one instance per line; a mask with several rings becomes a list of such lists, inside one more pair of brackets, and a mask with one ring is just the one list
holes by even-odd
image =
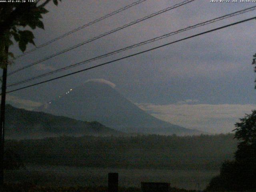
[[65, 33], [65, 34], [63, 34], [63, 35], [61, 35], [61, 36], [58, 36], [58, 37], [56, 37], [56, 38], [54, 38], [54, 39], [52, 39], [52, 40], [50, 40], [50, 41], [48, 41], [48, 42], [46, 42], [46, 43], [44, 43], [44, 44], [41, 44], [41, 45], [39, 45], [39, 46], [37, 46], [37, 47], [31, 49], [31, 50], [28, 50], [28, 51], [24, 52], [23, 54], [20, 54], [20, 55], [16, 56], [15, 59], [20, 58], [20, 57], [23, 57], [23, 56], [25, 56], [26, 54], [29, 54], [29, 53], [31, 53], [31, 52], [33, 52], [33, 51], [35, 51], [35, 50], [38, 50], [38, 49], [40, 49], [40, 48], [42, 48], [42, 47], [44, 47], [44, 46], [46, 46], [46, 45], [49, 45], [49, 44], [51, 44], [51, 43], [53, 43], [53, 42], [55, 42], [55, 41], [57, 41], [57, 40], [60, 40], [60, 39], [66, 37], [66, 36], [68, 36], [68, 35], [70, 35], [70, 34], [72, 34], [72, 33], [74, 33], [74, 32], [77, 32], [78, 30], [81, 30], [81, 29], [83, 29], [83, 28], [86, 28], [86, 27], [88, 27], [88, 26], [90, 26], [90, 25], [92, 25], [92, 24], [94, 24], [94, 23], [100, 22], [100, 21], [102, 21], [102, 20], [104, 20], [104, 19], [106, 19], [106, 18], [108, 18], [108, 17], [110, 17], [110, 16], [113, 16], [113, 15], [115, 15], [115, 14], [118, 14], [118, 13], [120, 13], [120, 12], [122, 12], [122, 11], [128, 9], [128, 8], [131, 8], [131, 7], [135, 6], [135, 5], [138, 5], [138, 4], [140, 4], [140, 3], [144, 2], [144, 1], [146, 1], [146, 0], [139, 0], [139, 1], [136, 1], [136, 2], [134, 2], [134, 3], [132, 3], [132, 4], [129, 4], [129, 5], [127, 5], [127, 6], [124, 6], [124, 7], [120, 8], [120, 9], [118, 9], [118, 10], [116, 10], [116, 11], [113, 11], [113, 12], [111, 12], [111, 13], [105, 15], [105, 16], [102, 16], [102, 17], [100, 17], [100, 18], [98, 18], [98, 19], [96, 19], [96, 20], [93, 20], [92, 22], [89, 22], [89, 23], [87, 23], [87, 24], [84, 24], [84, 25], [82, 25], [82, 26], [80, 26], [80, 27], [78, 27], [78, 28], [76, 28], [76, 29], [74, 29], [74, 30], [72, 30], [72, 31], [70, 31], [70, 32], [67, 32], [67, 33]]

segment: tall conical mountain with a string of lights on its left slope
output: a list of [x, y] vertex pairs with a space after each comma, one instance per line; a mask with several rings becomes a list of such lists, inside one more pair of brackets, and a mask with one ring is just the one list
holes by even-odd
[[122, 132], [144, 134], [200, 134], [151, 116], [124, 98], [111, 85], [87, 81], [37, 109], [86, 121], [98, 121]]

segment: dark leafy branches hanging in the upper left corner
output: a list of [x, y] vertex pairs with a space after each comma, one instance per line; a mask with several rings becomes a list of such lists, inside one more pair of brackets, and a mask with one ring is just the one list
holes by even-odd
[[[35, 0], [34, 2], [12, 2], [0, 4], [0, 67], [4, 68], [8, 64], [8, 57], [13, 57], [12, 53], [6, 53], [6, 47], [13, 44], [11, 38], [18, 42], [22, 52], [26, 50], [28, 43], [35, 45], [34, 35], [30, 30], [21, 30], [29, 26], [31, 29], [36, 27], [44, 29], [42, 15], [48, 10], [44, 8], [51, 0]], [[61, 0], [59, 0], [61, 1]], [[41, 3], [42, 4], [39, 4]], [[58, 0], [53, 0], [58, 5]]]

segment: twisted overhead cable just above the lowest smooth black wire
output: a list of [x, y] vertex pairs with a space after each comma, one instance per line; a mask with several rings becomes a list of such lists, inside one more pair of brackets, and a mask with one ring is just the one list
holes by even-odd
[[54, 73], [57, 73], [57, 72], [61, 72], [63, 70], [67, 70], [67, 69], [70, 69], [70, 68], [73, 68], [73, 67], [76, 67], [76, 66], [80, 66], [82, 64], [86, 64], [86, 63], [89, 63], [89, 62], [92, 62], [92, 61], [95, 61], [95, 60], [98, 60], [98, 59], [101, 59], [101, 58], [105, 58], [107, 56], [110, 56], [110, 55], [113, 55], [113, 54], [117, 54], [117, 53], [120, 53], [120, 52], [123, 52], [125, 50], [129, 50], [129, 49], [132, 49], [132, 48], [135, 48], [135, 47], [138, 47], [138, 46], [142, 46], [144, 44], [148, 44], [148, 43], [151, 43], [151, 42], [154, 42], [154, 41], [157, 41], [157, 40], [161, 40], [163, 38], [167, 38], [169, 36], [172, 36], [172, 35], [175, 35], [175, 34], [178, 34], [180, 32], [184, 32], [184, 31], [187, 31], [187, 30], [191, 30], [191, 29], [194, 29], [194, 28], [197, 28], [197, 27], [200, 27], [200, 26], [204, 26], [206, 24], [211, 24], [211, 23], [214, 23], [214, 22], [217, 22], [219, 20], [223, 20], [223, 19], [226, 19], [226, 18], [230, 18], [232, 16], [236, 16], [236, 15], [239, 15], [239, 14], [243, 14], [243, 13], [246, 13], [246, 12], [249, 12], [249, 11], [252, 11], [252, 10], [255, 10], [256, 9], [256, 6], [252, 6], [250, 8], [246, 8], [246, 9], [243, 9], [243, 10], [240, 10], [240, 11], [236, 11], [236, 12], [233, 12], [233, 13], [230, 13], [230, 14], [227, 14], [227, 15], [224, 15], [224, 16], [221, 16], [221, 17], [218, 17], [218, 18], [214, 18], [212, 20], [208, 20], [208, 21], [205, 21], [205, 22], [202, 22], [202, 23], [199, 23], [199, 24], [196, 24], [196, 25], [193, 25], [193, 26], [189, 26], [187, 28], [183, 28], [183, 29], [180, 29], [180, 30], [177, 30], [177, 31], [174, 31], [174, 32], [170, 32], [168, 34], [164, 34], [162, 36], [158, 36], [156, 38], [152, 38], [150, 40], [146, 40], [144, 42], [140, 42], [138, 44], [134, 44], [132, 46], [128, 46], [128, 47], [125, 47], [125, 48], [122, 48], [122, 49], [119, 49], [119, 50], [115, 50], [113, 52], [109, 52], [107, 54], [103, 54], [101, 56], [97, 56], [97, 57], [94, 57], [94, 58], [90, 58], [88, 60], [84, 60], [82, 62], [78, 62], [76, 64], [72, 64], [70, 66], [66, 66], [66, 67], [63, 67], [63, 68], [59, 68], [57, 70], [54, 70], [54, 71], [51, 71], [51, 72], [48, 72], [48, 73], [45, 73], [45, 74], [42, 74], [42, 75], [39, 75], [39, 76], [36, 76], [36, 77], [32, 77], [32, 78], [28, 78], [26, 80], [22, 80], [20, 82], [16, 82], [16, 83], [13, 83], [13, 84], [10, 84], [8, 85], [7, 87], [10, 87], [10, 86], [16, 86], [16, 85], [19, 85], [19, 84], [23, 84], [23, 83], [26, 83], [26, 82], [30, 82], [32, 80], [36, 80], [38, 78], [42, 78], [42, 77], [45, 77], [45, 76], [48, 76], [48, 75], [51, 75], [51, 74], [54, 74]]

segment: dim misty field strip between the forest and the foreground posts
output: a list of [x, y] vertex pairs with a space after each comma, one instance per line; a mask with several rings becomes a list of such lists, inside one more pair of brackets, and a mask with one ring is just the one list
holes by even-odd
[[170, 182], [172, 187], [185, 189], [204, 189], [216, 170], [159, 170], [159, 169], [122, 169], [88, 168], [68, 166], [27, 166], [26, 170], [5, 172], [6, 182], [30, 183], [39, 186], [107, 186], [108, 173], [119, 173], [120, 187], [140, 188], [140, 182]]

